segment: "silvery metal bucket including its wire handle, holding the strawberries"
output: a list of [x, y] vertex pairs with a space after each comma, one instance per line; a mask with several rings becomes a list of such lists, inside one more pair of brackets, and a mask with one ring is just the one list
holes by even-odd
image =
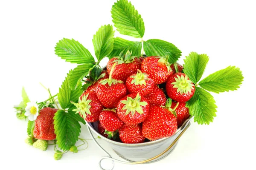
[[[125, 162], [125, 161], [112, 159], [109, 153], [107, 153], [93, 138], [94, 142], [96, 142], [96, 144], [103, 151], [105, 151], [105, 153], [107, 153], [109, 156], [109, 157], [103, 157], [100, 160], [100, 162], [103, 159], [111, 159], [112, 161], [118, 161], [125, 164], [140, 164], [140, 163], [151, 163], [168, 156], [172, 152], [172, 150], [174, 150], [180, 136], [182, 136], [182, 134], [186, 131], [186, 129], [191, 124], [192, 119], [193, 117], [190, 117], [189, 119], [187, 119], [183, 123], [183, 125], [177, 129], [176, 133], [171, 137], [158, 139], [156, 141], [139, 143], [139, 144], [125, 144], [125, 143], [113, 141], [111, 139], [106, 138], [105, 136], [102, 136], [97, 131], [98, 130], [97, 122], [93, 122], [93, 123], [87, 122], [87, 127], [91, 136], [92, 136], [91, 131], [93, 131], [96, 135], [100, 136], [105, 142], [108, 142], [118, 156], [128, 161], [128, 162]], [[113, 167], [111, 169], [113, 169]]]

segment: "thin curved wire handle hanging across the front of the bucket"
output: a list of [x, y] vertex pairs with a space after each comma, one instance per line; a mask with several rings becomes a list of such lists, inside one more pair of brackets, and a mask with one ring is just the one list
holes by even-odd
[[[171, 148], [173, 147], [173, 145], [176, 144], [176, 142], [180, 139], [180, 137], [183, 135], [183, 133], [185, 133], [185, 131], [189, 128], [190, 125], [191, 125], [190, 121], [186, 122], [186, 125], [183, 127], [183, 128], [184, 128], [183, 131], [177, 136], [177, 138], [172, 142], [172, 144], [170, 144], [170, 146], [167, 147], [166, 150], [164, 150], [162, 153], [158, 154], [157, 156], [154, 156], [153, 158], [146, 159], [146, 160], [144, 160], [144, 161], [137, 161], [137, 162], [120, 161], [120, 160], [118, 160], [118, 159], [112, 158], [111, 155], [110, 155], [105, 149], [103, 149], [103, 148], [99, 145], [99, 143], [96, 141], [96, 139], [93, 137], [93, 134], [92, 134], [92, 132], [91, 132], [90, 127], [89, 127], [88, 124], [87, 124], [87, 129], [89, 130], [90, 136], [92, 137], [93, 141], [97, 144], [97, 146], [98, 146], [101, 150], [103, 150], [103, 151], [108, 155], [108, 156], [102, 157], [102, 159], [99, 160], [99, 167], [101, 168], [101, 170], [106, 170], [106, 169], [104, 169], [104, 168], [102, 167], [101, 162], [102, 162], [102, 160], [104, 160], [104, 159], [108, 159], [108, 160], [111, 160], [111, 161], [112, 161], [112, 167], [111, 167], [111, 169], [108, 169], [108, 170], [113, 170], [113, 168], [114, 168], [114, 166], [115, 166], [114, 161], [119, 162], [119, 163], [122, 163], [122, 164], [143, 164], [143, 163], [152, 161], [152, 160], [154, 160], [154, 159], [157, 159], [158, 157], [160, 157], [160, 156], [162, 156], [164, 153], [166, 153], [169, 149], [171, 149]], [[182, 129], [181, 129], [181, 130], [182, 130]]]

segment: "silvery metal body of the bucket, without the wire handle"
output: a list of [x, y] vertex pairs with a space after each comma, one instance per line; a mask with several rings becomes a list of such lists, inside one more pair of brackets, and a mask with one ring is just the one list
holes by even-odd
[[[123, 159], [126, 159], [128, 161], [143, 161], [145, 159], [151, 159], [154, 156], [157, 156], [160, 153], [162, 153], [164, 150], [166, 150], [166, 148], [169, 147], [172, 144], [172, 142], [174, 142], [174, 140], [184, 130], [184, 128], [189, 125], [191, 119], [192, 118], [187, 119], [186, 122], [184, 122], [183, 125], [177, 129], [176, 133], [173, 136], [170, 136], [168, 138], [158, 139], [156, 141], [149, 141], [149, 142], [144, 142], [139, 144], [125, 144], [125, 143], [110, 140], [102, 136], [97, 132], [98, 122], [93, 122], [93, 123], [87, 122], [87, 125], [90, 127], [90, 129], [94, 133], [96, 133], [98, 136], [100, 136], [102, 139], [108, 142], [113, 148], [113, 150], [116, 152], [116, 154], [122, 157]], [[160, 159], [163, 159], [167, 155], [169, 155], [172, 152], [172, 150], [175, 148], [176, 144], [174, 144], [172, 148], [170, 148], [162, 156], [150, 162], [158, 161]]]

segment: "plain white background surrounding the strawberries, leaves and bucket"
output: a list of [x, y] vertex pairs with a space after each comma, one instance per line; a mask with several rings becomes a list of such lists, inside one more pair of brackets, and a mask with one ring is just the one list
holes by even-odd
[[[34, 101], [58, 92], [66, 73], [75, 64], [54, 53], [58, 40], [73, 38], [94, 55], [92, 38], [98, 28], [111, 22], [116, 0], [0, 2], [0, 169], [88, 169], [98, 170], [105, 156], [92, 141], [87, 150], [53, 159], [53, 148], [37, 150], [25, 144], [26, 122], [17, 120], [13, 105], [21, 101], [25, 87]], [[191, 127], [166, 159], [154, 164], [123, 165], [115, 170], [139, 169], [255, 169], [255, 62], [256, 10], [253, 0], [183, 1], [131, 0], [145, 22], [143, 40], [157, 38], [175, 44], [183, 53], [206, 53], [210, 59], [202, 78], [236, 65], [244, 82], [238, 91], [213, 94], [217, 117], [210, 125]], [[134, 40], [128, 36], [116, 36]], [[102, 65], [105, 65], [102, 62]], [[89, 139], [83, 127], [82, 137]], [[111, 154], [117, 156], [103, 144]], [[6, 168], [3, 168], [7, 166]]]

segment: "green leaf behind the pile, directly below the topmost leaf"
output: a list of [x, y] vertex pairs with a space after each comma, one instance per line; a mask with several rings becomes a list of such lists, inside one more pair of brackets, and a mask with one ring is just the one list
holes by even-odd
[[126, 52], [132, 51], [133, 56], [140, 56], [142, 43], [139, 41], [128, 41], [119, 37], [114, 38], [114, 48], [113, 51], [108, 55], [108, 58], [119, 56], [121, 52], [126, 54]]

